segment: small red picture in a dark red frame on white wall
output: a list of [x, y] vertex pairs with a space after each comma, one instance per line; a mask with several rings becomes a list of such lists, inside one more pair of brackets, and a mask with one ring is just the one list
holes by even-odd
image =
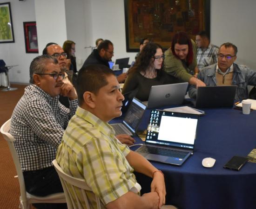
[[26, 53], [38, 53], [35, 22], [23, 22]]

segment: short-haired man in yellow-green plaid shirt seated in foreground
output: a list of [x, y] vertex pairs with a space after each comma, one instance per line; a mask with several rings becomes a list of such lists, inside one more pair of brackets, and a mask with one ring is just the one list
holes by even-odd
[[[69, 121], [56, 155], [61, 168], [71, 176], [84, 178], [101, 199], [102, 208], [161, 208], [166, 195], [162, 172], [121, 144], [108, 124], [121, 115], [124, 99], [114, 73], [103, 65], [82, 68], [77, 93], [79, 107]], [[139, 195], [141, 187], [134, 170], [153, 178], [150, 193]], [[87, 195], [95, 208], [92, 194]]]

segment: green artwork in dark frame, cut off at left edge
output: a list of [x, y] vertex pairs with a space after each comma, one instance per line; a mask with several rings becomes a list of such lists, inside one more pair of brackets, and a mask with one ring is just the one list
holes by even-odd
[[10, 2], [0, 3], [0, 43], [13, 43], [13, 20]]

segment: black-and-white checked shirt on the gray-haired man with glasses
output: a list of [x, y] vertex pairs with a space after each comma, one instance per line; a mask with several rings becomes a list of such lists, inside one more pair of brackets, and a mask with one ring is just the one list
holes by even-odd
[[23, 171], [52, 166], [64, 129], [77, 105], [75, 99], [67, 109], [59, 97], [51, 97], [40, 87], [31, 84], [25, 88], [13, 111], [10, 129]]

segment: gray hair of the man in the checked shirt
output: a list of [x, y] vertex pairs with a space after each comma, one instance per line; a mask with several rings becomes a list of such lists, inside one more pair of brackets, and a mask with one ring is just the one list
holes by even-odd
[[54, 63], [55, 65], [58, 65], [58, 60], [49, 55], [40, 55], [33, 59], [29, 67], [29, 77], [30, 77], [29, 83], [30, 84], [34, 83], [34, 80], [33, 80], [34, 74], [44, 73], [46, 71], [45, 66], [48, 63]]

